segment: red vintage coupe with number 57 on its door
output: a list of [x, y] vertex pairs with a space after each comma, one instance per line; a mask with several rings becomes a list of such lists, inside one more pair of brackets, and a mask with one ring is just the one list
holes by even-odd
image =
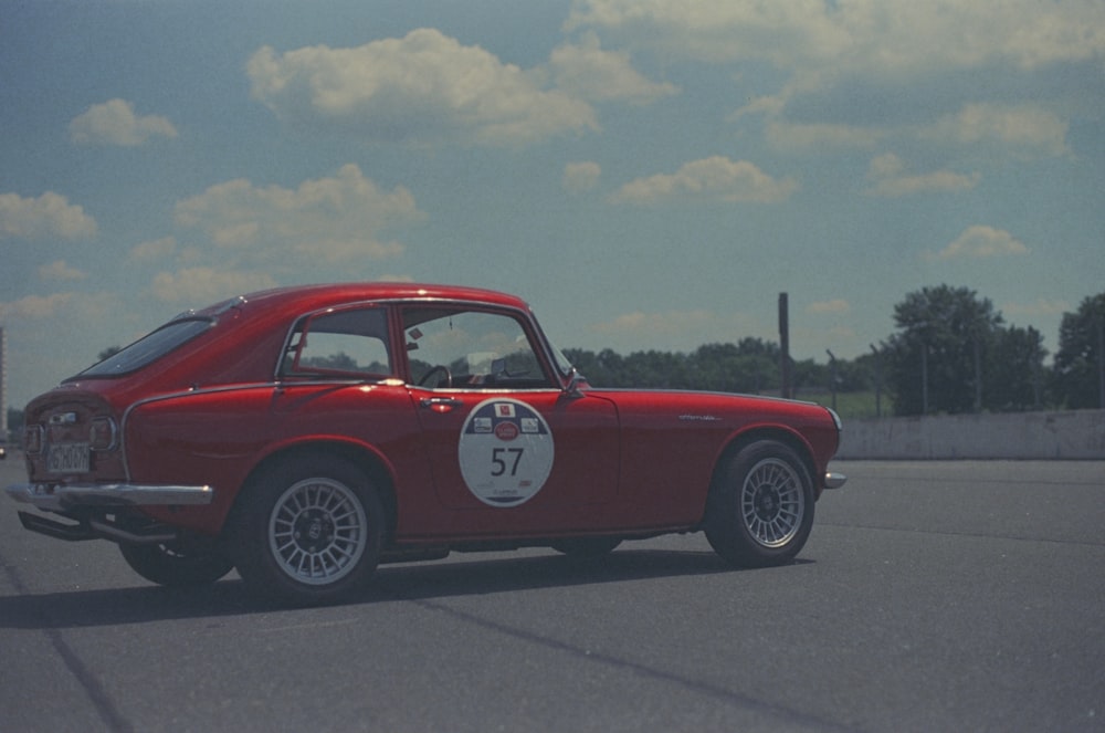
[[[378, 563], [704, 531], [741, 566], [806, 544], [840, 420], [818, 405], [594, 388], [502, 293], [284, 287], [183, 313], [27, 407], [23, 526], [143, 577], [238, 569], [329, 603]], [[44, 513], [42, 513], [44, 512]]]

